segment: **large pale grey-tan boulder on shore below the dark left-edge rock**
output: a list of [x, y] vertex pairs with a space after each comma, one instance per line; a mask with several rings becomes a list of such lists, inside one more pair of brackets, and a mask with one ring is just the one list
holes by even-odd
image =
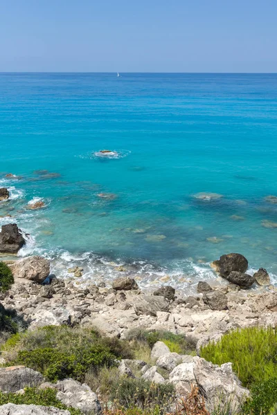
[[50, 261], [43, 257], [26, 257], [15, 261], [10, 269], [15, 279], [24, 278], [41, 284], [50, 274]]

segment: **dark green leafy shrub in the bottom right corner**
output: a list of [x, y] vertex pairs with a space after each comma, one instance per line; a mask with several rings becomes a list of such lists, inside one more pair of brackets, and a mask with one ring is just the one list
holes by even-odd
[[277, 378], [257, 383], [251, 389], [251, 398], [244, 405], [242, 414], [274, 414], [277, 405]]

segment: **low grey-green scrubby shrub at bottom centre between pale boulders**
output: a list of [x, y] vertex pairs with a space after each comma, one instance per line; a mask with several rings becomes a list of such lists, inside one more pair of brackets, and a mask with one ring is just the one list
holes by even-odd
[[166, 410], [175, 399], [173, 385], [157, 385], [139, 378], [118, 378], [111, 385], [110, 394], [111, 400], [125, 408], [150, 409], [158, 405], [160, 409]]

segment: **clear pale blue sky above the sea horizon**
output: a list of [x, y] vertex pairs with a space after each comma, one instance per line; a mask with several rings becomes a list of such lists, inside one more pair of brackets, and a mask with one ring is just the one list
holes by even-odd
[[277, 0], [0, 0], [0, 71], [277, 72]]

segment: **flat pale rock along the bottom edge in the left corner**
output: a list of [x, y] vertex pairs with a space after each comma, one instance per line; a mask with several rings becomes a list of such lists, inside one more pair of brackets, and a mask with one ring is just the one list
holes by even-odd
[[55, 407], [6, 403], [0, 406], [0, 415], [70, 415], [70, 412]]

